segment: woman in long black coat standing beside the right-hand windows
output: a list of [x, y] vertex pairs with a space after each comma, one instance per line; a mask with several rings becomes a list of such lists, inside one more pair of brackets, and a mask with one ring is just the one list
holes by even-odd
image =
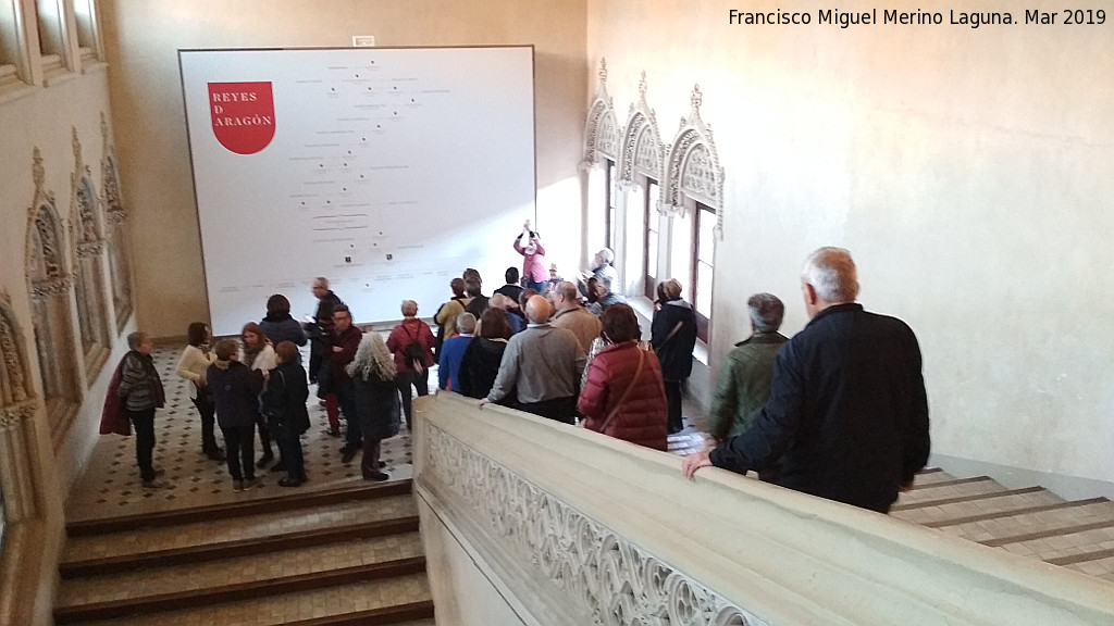
[[681, 432], [681, 385], [693, 372], [696, 345], [696, 312], [681, 299], [681, 283], [670, 278], [657, 285], [657, 313], [651, 325], [649, 343], [662, 363], [670, 434]]

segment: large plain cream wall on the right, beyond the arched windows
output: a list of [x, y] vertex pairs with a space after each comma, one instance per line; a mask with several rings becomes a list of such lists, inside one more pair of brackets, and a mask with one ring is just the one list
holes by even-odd
[[730, 26], [792, 10], [736, 4], [588, 8], [620, 121], [643, 70], [666, 144], [704, 94], [726, 172], [715, 369], [751, 293], [800, 330], [801, 263], [842, 245], [861, 302], [917, 331], [936, 451], [1114, 481], [1114, 27]]

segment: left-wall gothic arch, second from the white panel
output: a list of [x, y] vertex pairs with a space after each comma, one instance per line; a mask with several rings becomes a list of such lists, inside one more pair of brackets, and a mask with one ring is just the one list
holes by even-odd
[[92, 174], [81, 158], [81, 144], [74, 128], [75, 168], [70, 177], [70, 242], [74, 252], [78, 330], [85, 358], [86, 381], [91, 384], [110, 351], [108, 307], [105, 302], [105, 237], [100, 225]]

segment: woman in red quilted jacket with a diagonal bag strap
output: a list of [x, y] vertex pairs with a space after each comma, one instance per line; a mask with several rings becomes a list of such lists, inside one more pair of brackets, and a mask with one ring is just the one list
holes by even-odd
[[608, 306], [599, 319], [610, 342], [588, 364], [577, 408], [584, 427], [616, 439], [665, 450], [665, 385], [653, 352], [638, 348], [638, 317], [626, 304]]

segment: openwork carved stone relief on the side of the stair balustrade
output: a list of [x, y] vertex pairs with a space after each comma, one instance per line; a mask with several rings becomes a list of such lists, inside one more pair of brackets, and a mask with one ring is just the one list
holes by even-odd
[[[762, 626], [731, 604], [521, 476], [432, 424], [422, 480], [455, 515], [486, 529], [520, 567], [549, 583], [560, 604], [608, 626]], [[428, 477], [428, 478], [427, 478]]]

